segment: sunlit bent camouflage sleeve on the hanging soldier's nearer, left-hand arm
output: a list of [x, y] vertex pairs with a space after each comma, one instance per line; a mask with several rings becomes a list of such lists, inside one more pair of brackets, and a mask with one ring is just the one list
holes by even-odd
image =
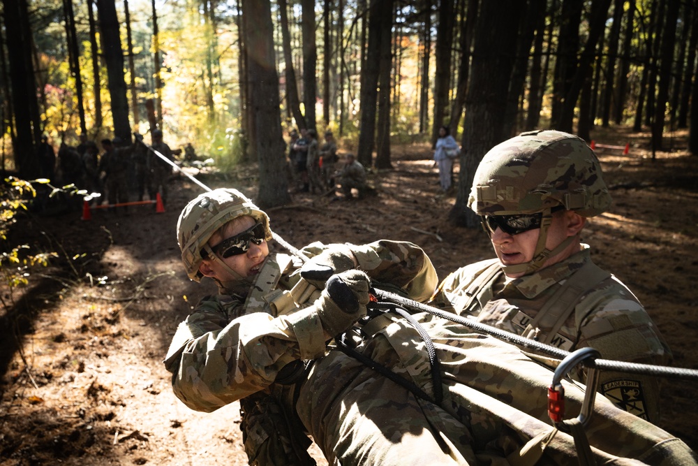
[[327, 337], [314, 307], [276, 318], [240, 315], [242, 307], [233, 298], [202, 301], [179, 324], [165, 367], [191, 409], [214, 411], [266, 388], [288, 363], [324, 354]]

